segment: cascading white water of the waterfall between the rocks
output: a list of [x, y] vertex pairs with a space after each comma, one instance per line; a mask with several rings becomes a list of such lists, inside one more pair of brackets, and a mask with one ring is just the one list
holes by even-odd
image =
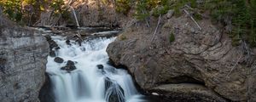
[[[60, 49], [55, 53], [64, 59], [59, 64], [48, 57], [47, 73], [52, 82], [55, 102], [143, 102], [127, 71], [108, 65], [106, 48], [113, 38], [96, 38], [67, 45], [64, 37], [52, 37]], [[67, 60], [76, 70], [64, 71]], [[103, 66], [103, 68], [102, 68]]]

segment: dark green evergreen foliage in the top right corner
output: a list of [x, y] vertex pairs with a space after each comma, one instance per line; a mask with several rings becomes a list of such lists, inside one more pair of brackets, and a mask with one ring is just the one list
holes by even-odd
[[256, 0], [208, 0], [206, 9], [213, 20], [232, 26], [230, 37], [234, 46], [245, 40], [256, 47]]

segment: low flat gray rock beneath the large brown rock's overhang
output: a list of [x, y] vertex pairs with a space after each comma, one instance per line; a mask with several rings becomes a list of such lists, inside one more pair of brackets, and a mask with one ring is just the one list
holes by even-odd
[[212, 90], [194, 83], [160, 85], [150, 90], [150, 92], [153, 95], [164, 94], [164, 98], [172, 99], [174, 102], [185, 100], [191, 102], [227, 102], [227, 100], [220, 98]]

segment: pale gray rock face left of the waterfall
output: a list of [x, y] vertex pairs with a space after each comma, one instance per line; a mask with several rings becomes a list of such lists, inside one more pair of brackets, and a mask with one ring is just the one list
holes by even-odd
[[36, 31], [14, 26], [0, 13], [0, 100], [38, 102], [49, 45]]

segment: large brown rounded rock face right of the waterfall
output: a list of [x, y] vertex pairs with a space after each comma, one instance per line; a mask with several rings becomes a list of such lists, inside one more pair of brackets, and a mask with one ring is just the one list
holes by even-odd
[[157, 19], [150, 19], [150, 27], [137, 23], [109, 44], [109, 57], [115, 65], [127, 66], [145, 90], [195, 82], [225, 99], [256, 101], [255, 52], [232, 46], [225, 30], [211, 20], [198, 23], [201, 31], [186, 15], [171, 19], [164, 15], [155, 37]]

